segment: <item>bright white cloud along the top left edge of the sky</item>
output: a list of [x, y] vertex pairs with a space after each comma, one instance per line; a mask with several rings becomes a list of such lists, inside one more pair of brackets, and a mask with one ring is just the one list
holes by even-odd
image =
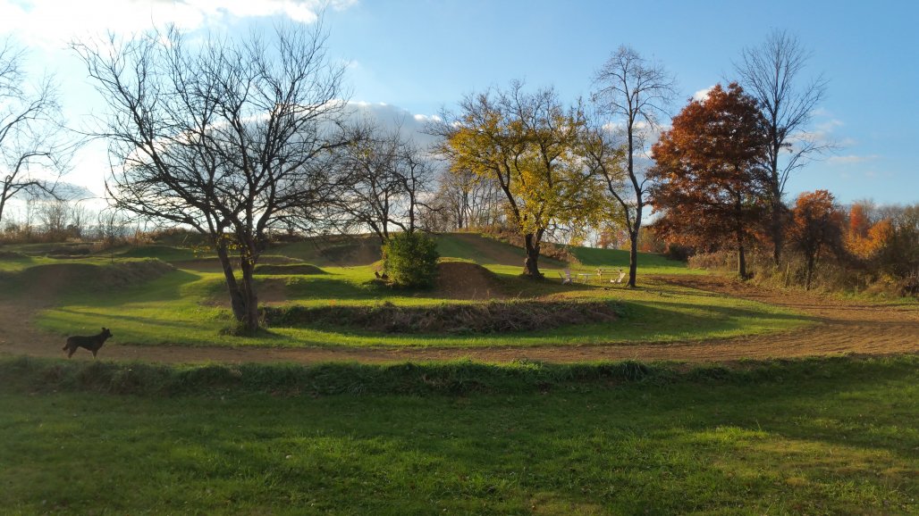
[[0, 0], [0, 32], [17, 32], [19, 38], [32, 45], [59, 47], [76, 37], [109, 30], [130, 33], [170, 23], [186, 30], [252, 17], [287, 17], [313, 23], [323, 5], [344, 9], [355, 3], [356, 0]]

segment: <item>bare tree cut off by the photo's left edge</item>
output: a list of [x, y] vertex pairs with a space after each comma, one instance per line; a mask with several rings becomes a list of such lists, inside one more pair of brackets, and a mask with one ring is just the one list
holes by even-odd
[[20, 194], [53, 197], [73, 146], [65, 139], [51, 77], [29, 84], [25, 50], [0, 40], [0, 220]]

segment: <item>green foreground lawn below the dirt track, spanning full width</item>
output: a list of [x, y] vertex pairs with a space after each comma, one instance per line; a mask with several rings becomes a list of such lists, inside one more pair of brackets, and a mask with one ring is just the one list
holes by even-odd
[[917, 371], [6, 358], [0, 490], [24, 514], [915, 513]]

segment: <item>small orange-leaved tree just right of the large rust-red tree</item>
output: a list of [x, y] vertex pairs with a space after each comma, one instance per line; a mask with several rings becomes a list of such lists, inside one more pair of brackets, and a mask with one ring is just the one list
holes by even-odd
[[798, 196], [789, 229], [791, 241], [804, 254], [807, 269], [804, 287], [810, 290], [813, 267], [820, 253], [826, 249], [838, 250], [843, 240], [843, 214], [836, 207], [833, 194], [817, 190]]

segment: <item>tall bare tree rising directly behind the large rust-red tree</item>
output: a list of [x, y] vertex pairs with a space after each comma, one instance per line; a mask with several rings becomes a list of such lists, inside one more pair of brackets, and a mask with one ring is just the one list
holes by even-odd
[[782, 196], [792, 171], [834, 148], [832, 142], [808, 134], [813, 111], [826, 95], [823, 75], [800, 77], [810, 53], [785, 30], [773, 30], [759, 47], [744, 49], [734, 63], [743, 89], [759, 102], [769, 131], [766, 169], [769, 173], [769, 233], [773, 260], [779, 263], [785, 242], [788, 208]]

